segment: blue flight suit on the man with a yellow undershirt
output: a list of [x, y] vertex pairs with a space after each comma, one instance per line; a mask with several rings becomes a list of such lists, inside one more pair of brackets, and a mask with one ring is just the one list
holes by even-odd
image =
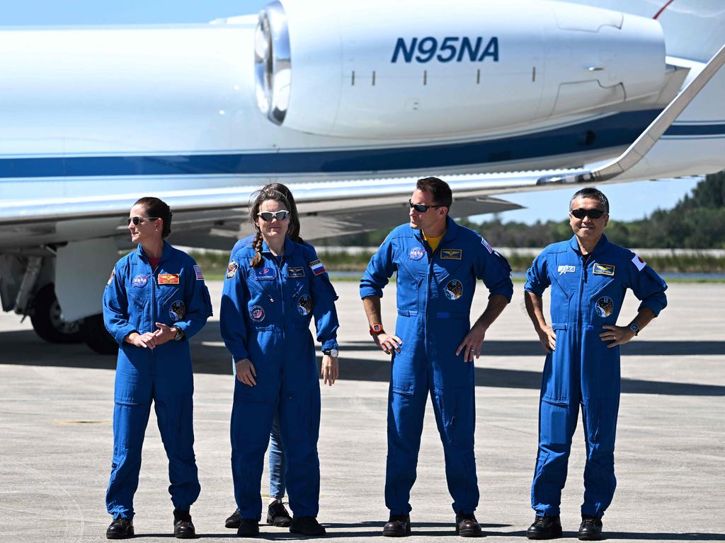
[[386, 237], [372, 258], [360, 297], [382, 296], [397, 271], [398, 318], [402, 340], [392, 354], [388, 393], [388, 459], [385, 504], [392, 515], [410, 513], [421, 448], [426, 397], [431, 402], [443, 442], [448, 490], [455, 513], [473, 513], [479, 504], [473, 363], [455, 352], [471, 329], [476, 279], [490, 295], [513, 295], [508, 262], [473, 230], [447, 218], [447, 230], [435, 252], [420, 230], [402, 224]]

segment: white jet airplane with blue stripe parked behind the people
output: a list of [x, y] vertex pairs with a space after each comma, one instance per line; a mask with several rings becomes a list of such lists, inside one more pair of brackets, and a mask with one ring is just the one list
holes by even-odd
[[142, 195], [170, 204], [173, 243], [229, 249], [273, 180], [315, 239], [399, 223], [423, 175], [466, 216], [716, 172], [724, 22], [721, 0], [281, 0], [209, 25], [2, 30], [2, 308], [113, 350], [101, 294]]

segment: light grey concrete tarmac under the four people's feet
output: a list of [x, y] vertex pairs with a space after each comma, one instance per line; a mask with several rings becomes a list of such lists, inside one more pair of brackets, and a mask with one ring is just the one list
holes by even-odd
[[[482, 285], [481, 285], [482, 286]], [[319, 520], [328, 538], [381, 536], [389, 359], [376, 350], [355, 282], [338, 282], [341, 379], [323, 387]], [[215, 317], [192, 341], [194, 426], [202, 494], [191, 510], [204, 538], [224, 528], [233, 503], [229, 418], [233, 377]], [[476, 459], [488, 541], [523, 541], [537, 451], [543, 350], [523, 310], [522, 285], [486, 334], [476, 361]], [[616, 448], [618, 488], [604, 518], [610, 540], [725, 541], [725, 285], [674, 284], [669, 306], [622, 348]], [[394, 285], [383, 300], [394, 323]], [[474, 307], [486, 301], [479, 287]], [[637, 300], [628, 295], [621, 323]], [[620, 324], [621, 324], [620, 323]], [[49, 345], [30, 323], [0, 316], [0, 537], [10, 542], [98, 542], [110, 521], [104, 495], [112, 455], [115, 357], [85, 345]], [[563, 492], [565, 538], [576, 540], [584, 439], [577, 428]], [[267, 499], [268, 482], [262, 481]], [[136, 492], [137, 538], [168, 541], [173, 506], [152, 410]], [[415, 541], [455, 541], [443, 452], [428, 403], [411, 513]], [[263, 516], [262, 519], [265, 517]], [[265, 539], [307, 539], [261, 527]]]

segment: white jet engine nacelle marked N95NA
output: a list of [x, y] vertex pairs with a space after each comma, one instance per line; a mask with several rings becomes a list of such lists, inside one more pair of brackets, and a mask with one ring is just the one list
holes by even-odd
[[656, 96], [666, 77], [655, 20], [531, 0], [274, 1], [255, 62], [270, 120], [362, 138], [550, 124]]

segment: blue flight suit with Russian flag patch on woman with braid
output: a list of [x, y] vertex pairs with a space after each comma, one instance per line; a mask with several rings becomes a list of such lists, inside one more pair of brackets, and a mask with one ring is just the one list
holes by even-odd
[[222, 293], [220, 329], [233, 360], [249, 358], [257, 385], [235, 379], [231, 415], [234, 497], [241, 518], [260, 520], [260, 482], [272, 419], [279, 412], [287, 457], [289, 505], [317, 516], [320, 495], [320, 382], [310, 319], [323, 350], [337, 348], [337, 299], [311, 245], [285, 240], [276, 258], [262, 244], [252, 268], [251, 240], [231, 256]]

